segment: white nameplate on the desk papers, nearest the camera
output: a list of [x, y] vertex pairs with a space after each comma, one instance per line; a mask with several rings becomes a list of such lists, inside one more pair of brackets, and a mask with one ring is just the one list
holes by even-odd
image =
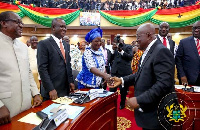
[[67, 110], [61, 110], [62, 112], [59, 113], [55, 118], [54, 122], [56, 126], [59, 126], [63, 121], [65, 121], [68, 118]]

